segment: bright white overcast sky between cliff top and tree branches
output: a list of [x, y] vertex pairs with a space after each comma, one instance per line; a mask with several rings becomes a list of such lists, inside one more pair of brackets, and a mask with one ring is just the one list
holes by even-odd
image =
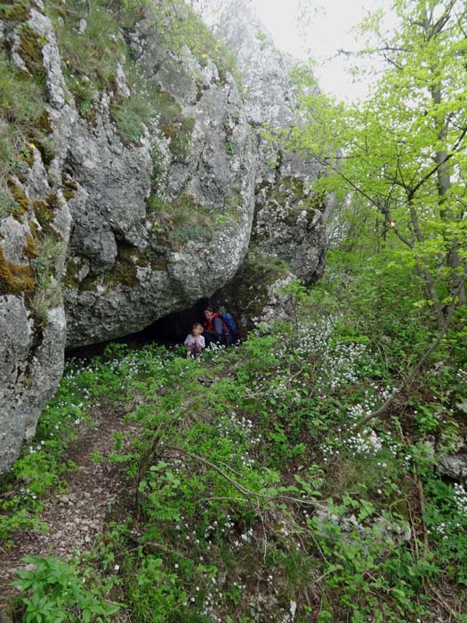
[[345, 73], [342, 58], [328, 59], [334, 57], [340, 48], [357, 49], [351, 29], [368, 12], [380, 7], [388, 9], [390, 0], [316, 0], [313, 4], [321, 8], [311, 17], [310, 26], [306, 28], [306, 40], [300, 33], [303, 28], [298, 28], [300, 0], [252, 2], [278, 48], [298, 57], [302, 57], [308, 49], [310, 55], [320, 61], [316, 74], [324, 91], [345, 100], [365, 95], [366, 85], [352, 84]]

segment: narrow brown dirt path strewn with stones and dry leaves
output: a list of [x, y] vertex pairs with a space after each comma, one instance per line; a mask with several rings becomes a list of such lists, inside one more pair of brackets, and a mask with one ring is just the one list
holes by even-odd
[[[23, 556], [52, 555], [68, 559], [74, 552], [93, 547], [109, 509], [117, 499], [123, 498], [123, 475], [118, 465], [109, 464], [105, 458], [114, 450], [112, 433], [124, 433], [127, 441], [138, 434], [137, 426], [123, 421], [124, 415], [94, 414], [97, 425], [86, 427], [79, 439], [70, 445], [64, 459], [73, 461], [77, 467], [68, 474], [68, 492], [50, 498], [40, 518], [50, 529], [47, 532], [19, 531], [12, 547], [0, 544], [0, 601], [2, 597], [14, 595], [15, 589], [9, 584], [15, 570], [28, 566], [21, 561]], [[96, 462], [95, 456], [104, 460]]]

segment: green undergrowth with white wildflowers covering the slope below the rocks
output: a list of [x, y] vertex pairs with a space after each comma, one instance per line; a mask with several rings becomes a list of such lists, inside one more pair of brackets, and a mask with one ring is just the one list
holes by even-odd
[[290, 323], [202, 360], [70, 361], [3, 483], [15, 620], [465, 623], [467, 491], [439, 472], [465, 438], [463, 319], [353, 427], [436, 336], [407, 270], [337, 255], [290, 287]]

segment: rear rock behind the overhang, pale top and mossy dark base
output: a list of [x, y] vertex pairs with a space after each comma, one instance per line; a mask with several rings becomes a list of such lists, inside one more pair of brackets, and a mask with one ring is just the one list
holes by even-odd
[[309, 284], [325, 268], [329, 198], [315, 195], [309, 183], [324, 172], [303, 161], [282, 137], [297, 123], [294, 59], [274, 46], [251, 4], [230, 2], [218, 30], [235, 51], [242, 75], [248, 122], [256, 128], [255, 212], [250, 253], [235, 279], [217, 293], [215, 303], [237, 313], [244, 330], [293, 316], [284, 287], [295, 278]]

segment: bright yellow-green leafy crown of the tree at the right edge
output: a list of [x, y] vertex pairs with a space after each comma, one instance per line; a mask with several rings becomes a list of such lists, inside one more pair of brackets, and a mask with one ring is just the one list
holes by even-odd
[[467, 257], [467, 12], [458, 0], [395, 0], [393, 8], [391, 38], [374, 16], [363, 25], [378, 40], [364, 53], [385, 63], [372, 96], [345, 107], [305, 89], [306, 122], [292, 146], [328, 166], [320, 190], [358, 194], [380, 214], [442, 327], [453, 296], [466, 304], [458, 286]]

